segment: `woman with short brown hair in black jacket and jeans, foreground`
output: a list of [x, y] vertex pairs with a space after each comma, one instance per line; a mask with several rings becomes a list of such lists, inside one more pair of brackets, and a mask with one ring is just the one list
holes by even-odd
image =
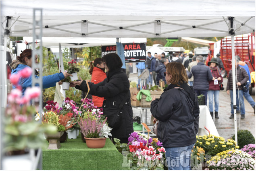
[[199, 128], [197, 95], [187, 84], [187, 74], [181, 63], [168, 63], [164, 74], [169, 86], [159, 99], [152, 99], [150, 111], [159, 120], [157, 135], [166, 150], [167, 163], [171, 163], [168, 170], [189, 170], [190, 154]]

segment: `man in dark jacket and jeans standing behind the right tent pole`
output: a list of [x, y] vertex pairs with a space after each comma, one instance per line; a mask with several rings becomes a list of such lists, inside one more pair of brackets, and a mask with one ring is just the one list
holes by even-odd
[[[240, 114], [241, 114], [241, 119], [245, 118], [245, 108], [244, 108], [244, 97], [243, 97], [243, 89], [241, 86], [249, 80], [249, 76], [246, 72], [246, 70], [238, 65], [239, 60], [236, 58], [235, 59], [235, 67], [236, 67], [236, 86], [235, 86], [235, 93], [236, 93], [236, 98], [239, 98], [240, 102]], [[231, 116], [229, 119], [234, 118], [234, 108], [233, 108], [233, 78], [232, 78], [232, 70], [229, 71], [229, 77], [227, 79], [227, 94], [230, 95], [231, 99]], [[237, 82], [238, 81], [238, 82]], [[239, 105], [239, 104], [237, 104]]]

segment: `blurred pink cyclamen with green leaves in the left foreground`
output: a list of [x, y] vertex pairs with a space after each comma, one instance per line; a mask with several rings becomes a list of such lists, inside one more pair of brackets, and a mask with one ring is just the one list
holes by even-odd
[[42, 125], [35, 121], [34, 115], [38, 106], [31, 105], [31, 100], [38, 101], [41, 90], [39, 87], [27, 87], [22, 95], [19, 79], [31, 75], [30, 68], [24, 68], [19, 74], [11, 77], [11, 82], [17, 89], [12, 89], [8, 95], [8, 105], [4, 117], [4, 151], [14, 154], [14, 151], [26, 150], [27, 148], [41, 148], [44, 143], [43, 133], [54, 133], [54, 126]]

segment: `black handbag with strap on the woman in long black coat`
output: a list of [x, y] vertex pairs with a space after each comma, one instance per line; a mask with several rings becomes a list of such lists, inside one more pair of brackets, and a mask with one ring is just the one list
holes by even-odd
[[122, 107], [125, 104], [125, 101], [127, 100], [128, 95], [130, 94], [130, 91], [127, 92], [127, 95], [123, 99], [123, 101], [120, 103], [119, 108], [114, 107], [108, 107], [103, 108], [103, 114], [106, 115], [108, 126], [112, 129], [117, 129], [121, 126], [121, 114], [122, 114]]

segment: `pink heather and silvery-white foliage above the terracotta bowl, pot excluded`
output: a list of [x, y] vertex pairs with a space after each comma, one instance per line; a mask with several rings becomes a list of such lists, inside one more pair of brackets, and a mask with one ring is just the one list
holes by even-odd
[[110, 133], [112, 128], [107, 126], [106, 119], [100, 122], [96, 115], [88, 113], [78, 121], [78, 124], [86, 138], [108, 138], [108, 136], [112, 136]]

